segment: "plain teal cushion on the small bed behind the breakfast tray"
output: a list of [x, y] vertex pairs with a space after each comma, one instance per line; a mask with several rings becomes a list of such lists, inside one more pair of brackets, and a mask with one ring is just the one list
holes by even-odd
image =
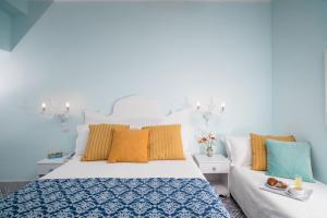
[[310, 144], [267, 140], [267, 175], [315, 182], [311, 167]]

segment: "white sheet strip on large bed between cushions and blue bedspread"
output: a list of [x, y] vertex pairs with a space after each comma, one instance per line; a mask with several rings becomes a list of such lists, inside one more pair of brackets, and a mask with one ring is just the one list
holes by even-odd
[[73, 178], [201, 178], [192, 156], [185, 160], [157, 160], [148, 164], [107, 164], [107, 161], [81, 161], [75, 156], [41, 179]]

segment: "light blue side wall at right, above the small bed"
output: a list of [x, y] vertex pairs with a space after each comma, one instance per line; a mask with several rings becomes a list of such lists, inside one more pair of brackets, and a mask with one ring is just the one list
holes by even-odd
[[314, 174], [327, 182], [323, 61], [327, 1], [277, 0], [272, 17], [274, 129], [308, 140]]

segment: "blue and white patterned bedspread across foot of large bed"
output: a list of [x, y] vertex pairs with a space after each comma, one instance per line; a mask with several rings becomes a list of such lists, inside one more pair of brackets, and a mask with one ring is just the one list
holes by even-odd
[[229, 218], [202, 179], [37, 180], [4, 199], [0, 217]]

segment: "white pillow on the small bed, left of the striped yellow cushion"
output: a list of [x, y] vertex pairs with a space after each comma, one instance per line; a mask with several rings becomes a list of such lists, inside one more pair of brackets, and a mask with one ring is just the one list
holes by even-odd
[[227, 154], [234, 166], [251, 166], [252, 150], [250, 137], [226, 137]]

